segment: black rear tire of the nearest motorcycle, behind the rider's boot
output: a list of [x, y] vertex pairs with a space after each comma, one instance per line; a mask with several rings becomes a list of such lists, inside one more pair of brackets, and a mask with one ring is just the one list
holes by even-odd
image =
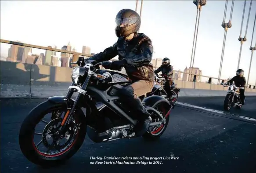
[[[166, 109], [166, 106], [164, 105], [163, 102], [160, 102], [159, 104], [157, 104], [156, 106], [154, 106], [153, 108], [156, 109], [158, 106], [161, 106], [161, 110], [160, 112], [162, 112], [162, 116], [166, 116], [166, 124], [161, 124], [161, 126], [157, 129], [155, 129], [155, 131], [151, 131], [151, 132], [146, 132], [145, 134], [142, 135], [142, 137], [144, 138], [144, 140], [146, 141], [155, 141], [155, 140], [159, 140], [159, 138], [162, 136], [162, 134], [166, 131], [166, 128], [168, 126], [169, 123], [169, 111]], [[159, 109], [156, 109], [159, 110]], [[167, 112], [168, 111], [168, 112]], [[167, 115], [166, 115], [167, 114]], [[153, 118], [152, 118], [153, 120]], [[153, 121], [152, 121], [153, 122]]]

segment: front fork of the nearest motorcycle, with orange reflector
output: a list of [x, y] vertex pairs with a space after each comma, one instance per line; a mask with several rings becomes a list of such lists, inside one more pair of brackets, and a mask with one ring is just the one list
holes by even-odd
[[[87, 88], [87, 85], [89, 84], [89, 80], [90, 80], [90, 77], [91, 75], [88, 74], [87, 75], [87, 78], [85, 80], [85, 82], [83, 83], [83, 85], [81, 86], [81, 88], [79, 89], [78, 94], [76, 96], [76, 99], [74, 101], [74, 104], [72, 105], [71, 109], [68, 110], [63, 118], [63, 120], [61, 121], [61, 127], [60, 127], [60, 132], [64, 131], [64, 127], [70, 123], [70, 120], [72, 119], [73, 117], [73, 112], [76, 110], [76, 106], [77, 106], [77, 103], [79, 103], [79, 100], [80, 98], [82, 97], [82, 95], [85, 95], [86, 92], [85, 92], [85, 89]], [[72, 82], [71, 86], [74, 86], [74, 82]], [[67, 99], [71, 99], [72, 95], [74, 93], [74, 88], [69, 88], [69, 91], [66, 95]], [[60, 133], [62, 134], [62, 133]]]

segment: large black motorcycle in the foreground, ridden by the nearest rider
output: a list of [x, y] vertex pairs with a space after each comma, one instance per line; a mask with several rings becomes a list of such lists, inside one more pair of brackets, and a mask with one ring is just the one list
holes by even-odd
[[[72, 85], [67, 95], [48, 98], [32, 109], [22, 123], [20, 148], [35, 164], [53, 166], [69, 159], [83, 144], [86, 133], [94, 142], [135, 138], [136, 116], [116, 95], [120, 88], [130, 84], [130, 79], [118, 72], [100, 70], [101, 63], [82, 65], [80, 61], [78, 65], [72, 71]], [[75, 92], [76, 99], [72, 99]], [[152, 118], [143, 137], [158, 139], [167, 128], [173, 104], [156, 95], [144, 99], [143, 103]], [[48, 113], [49, 121], [45, 120]], [[39, 123], [43, 123], [41, 132], [35, 130]], [[39, 137], [37, 143], [36, 137]], [[40, 149], [41, 144], [44, 151]]]

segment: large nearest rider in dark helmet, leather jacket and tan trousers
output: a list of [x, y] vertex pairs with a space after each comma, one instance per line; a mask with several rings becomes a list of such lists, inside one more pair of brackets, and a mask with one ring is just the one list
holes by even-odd
[[92, 60], [95, 64], [119, 56], [119, 60], [112, 61], [110, 65], [109, 62], [103, 62], [101, 65], [106, 69], [118, 71], [121, 71], [122, 67], [125, 68], [132, 84], [120, 89], [119, 97], [137, 115], [138, 123], [134, 127], [134, 131], [136, 136], [141, 136], [148, 130], [149, 124], [152, 122], [150, 113], [147, 112], [138, 97], [151, 92], [154, 87], [154, 69], [150, 63], [153, 46], [148, 36], [138, 33], [141, 18], [137, 12], [123, 9], [116, 15], [115, 23], [117, 42], [85, 61]]

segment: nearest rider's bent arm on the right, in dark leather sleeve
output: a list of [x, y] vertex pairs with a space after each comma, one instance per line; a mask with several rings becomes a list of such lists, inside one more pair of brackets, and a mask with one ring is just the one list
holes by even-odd
[[141, 42], [141, 53], [133, 56], [132, 58], [124, 58], [128, 64], [131, 65], [143, 65], [149, 64], [152, 60], [153, 46], [149, 38], [144, 38]]

